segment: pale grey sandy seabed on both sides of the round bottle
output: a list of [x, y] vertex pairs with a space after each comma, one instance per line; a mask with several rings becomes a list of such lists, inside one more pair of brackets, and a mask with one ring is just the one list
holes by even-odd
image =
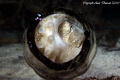
[[[79, 78], [99, 79], [120, 76], [120, 51], [98, 47], [89, 70]], [[23, 56], [22, 44], [0, 46], [0, 80], [43, 80], [29, 67]]]

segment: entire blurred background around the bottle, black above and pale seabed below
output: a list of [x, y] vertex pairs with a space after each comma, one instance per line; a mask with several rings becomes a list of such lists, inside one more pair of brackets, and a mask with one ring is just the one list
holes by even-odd
[[[86, 2], [101, 4], [87, 5]], [[95, 27], [99, 54], [86, 74], [89, 74], [87, 77], [95, 75], [101, 78], [106, 74], [120, 76], [120, 1], [115, 0], [114, 5], [102, 2], [108, 1], [0, 0], [0, 80], [41, 80], [24, 60], [23, 33], [30, 23], [31, 16], [38, 12], [42, 14], [44, 9], [51, 7], [67, 7], [81, 12]], [[104, 58], [105, 61], [100, 58]]]

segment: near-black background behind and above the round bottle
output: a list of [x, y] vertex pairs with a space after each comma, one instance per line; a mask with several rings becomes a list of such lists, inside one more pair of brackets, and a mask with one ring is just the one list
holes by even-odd
[[98, 46], [116, 47], [120, 38], [120, 3], [85, 5], [84, 1], [97, 0], [0, 0], [0, 45], [22, 43], [33, 14], [50, 7], [67, 7], [81, 12], [94, 25]]

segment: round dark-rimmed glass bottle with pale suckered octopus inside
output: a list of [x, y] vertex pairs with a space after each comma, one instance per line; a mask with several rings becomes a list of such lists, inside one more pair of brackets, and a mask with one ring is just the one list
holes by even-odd
[[81, 13], [53, 8], [31, 21], [24, 49], [27, 63], [39, 76], [70, 80], [85, 73], [95, 56], [93, 26]]

